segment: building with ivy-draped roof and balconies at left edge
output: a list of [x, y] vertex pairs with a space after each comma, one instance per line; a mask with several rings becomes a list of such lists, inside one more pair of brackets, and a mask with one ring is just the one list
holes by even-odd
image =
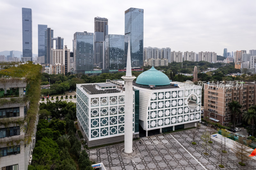
[[[20, 71], [20, 69], [24, 70]], [[35, 110], [38, 110], [38, 107], [30, 112], [29, 107], [38, 106], [35, 105], [34, 99], [36, 97], [39, 99], [40, 96], [40, 92], [39, 96], [35, 92], [37, 85], [40, 85], [35, 83], [38, 81], [36, 77], [40, 74], [40, 70], [41, 66], [28, 63], [0, 71], [0, 169], [2, 170], [27, 170], [31, 163], [38, 122]]]

